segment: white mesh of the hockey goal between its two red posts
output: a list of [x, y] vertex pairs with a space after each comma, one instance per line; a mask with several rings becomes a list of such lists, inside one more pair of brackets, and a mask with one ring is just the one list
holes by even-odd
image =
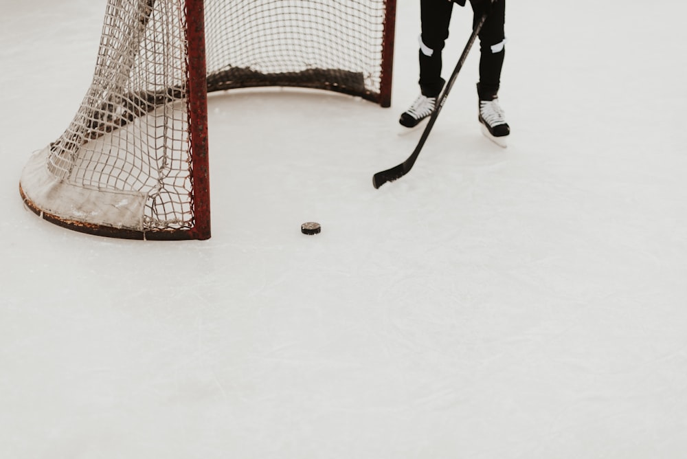
[[210, 91], [294, 85], [379, 93], [385, 2], [238, 3], [206, 7]]

